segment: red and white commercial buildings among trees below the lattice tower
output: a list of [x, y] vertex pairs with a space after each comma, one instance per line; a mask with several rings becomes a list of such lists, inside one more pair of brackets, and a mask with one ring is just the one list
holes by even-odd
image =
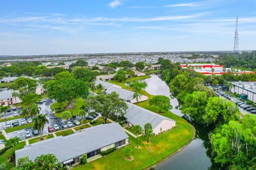
[[218, 64], [181, 64], [183, 69], [194, 70], [196, 72], [202, 73], [204, 75], [222, 75], [224, 73], [233, 74], [255, 74], [252, 71], [242, 71], [239, 69], [224, 68], [223, 65]]

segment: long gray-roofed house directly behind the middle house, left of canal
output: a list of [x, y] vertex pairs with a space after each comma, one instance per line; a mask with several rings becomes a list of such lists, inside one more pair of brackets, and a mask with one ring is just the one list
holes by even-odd
[[[122, 89], [120, 86], [117, 86], [109, 82], [104, 82], [101, 80], [95, 81], [95, 86], [97, 86], [98, 84], [102, 84], [102, 86], [106, 89], [105, 90], [106, 94], [111, 94], [111, 92], [115, 91], [119, 95], [119, 98], [121, 98], [122, 100], [129, 103], [137, 103], [137, 99], [133, 97], [133, 95], [135, 94], [135, 92], [133, 91]], [[148, 97], [144, 95], [141, 95], [138, 98], [138, 102], [146, 101], [146, 100], [148, 100]]]

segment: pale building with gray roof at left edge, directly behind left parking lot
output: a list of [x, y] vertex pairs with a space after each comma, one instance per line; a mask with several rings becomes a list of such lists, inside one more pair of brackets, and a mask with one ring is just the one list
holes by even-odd
[[[8, 106], [8, 105], [21, 103], [21, 99], [18, 96], [13, 97], [12, 92], [13, 91], [0, 92], [0, 106]], [[19, 93], [18, 90], [15, 92]]]

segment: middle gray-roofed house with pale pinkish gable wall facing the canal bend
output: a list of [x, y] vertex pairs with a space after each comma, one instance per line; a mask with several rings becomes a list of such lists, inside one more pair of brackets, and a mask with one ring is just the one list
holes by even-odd
[[144, 130], [144, 125], [146, 123], [150, 123], [152, 125], [153, 132], [158, 134], [163, 131], [170, 130], [176, 126], [176, 122], [171, 118], [156, 114], [131, 103], [127, 103], [127, 105], [128, 109], [124, 117], [126, 118], [126, 121], [130, 127], [132, 125], [139, 124]]

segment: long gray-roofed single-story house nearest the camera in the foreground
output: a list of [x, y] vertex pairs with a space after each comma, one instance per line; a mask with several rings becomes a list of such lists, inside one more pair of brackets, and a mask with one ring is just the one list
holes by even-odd
[[19, 158], [28, 156], [32, 161], [42, 154], [54, 154], [62, 165], [78, 164], [84, 154], [90, 159], [110, 148], [121, 148], [129, 143], [129, 136], [118, 123], [93, 126], [67, 135], [36, 142], [15, 151]]

